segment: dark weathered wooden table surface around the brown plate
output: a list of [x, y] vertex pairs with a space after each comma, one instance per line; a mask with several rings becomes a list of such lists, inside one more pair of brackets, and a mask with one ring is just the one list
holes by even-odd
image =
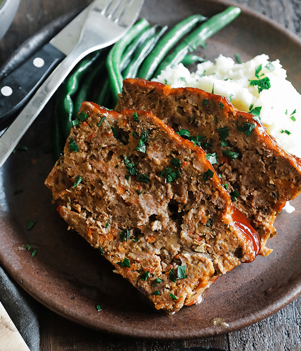
[[[0, 65], [24, 40], [43, 26], [71, 9], [89, 3], [89, 0], [21, 0], [13, 25], [0, 41]], [[232, 3], [264, 14], [301, 37], [300, 0], [236, 0]], [[301, 297], [272, 316], [242, 330], [203, 339], [156, 342], [95, 332], [41, 306], [41, 351], [172, 351], [190, 346], [213, 346], [238, 351], [301, 350], [300, 313]]]

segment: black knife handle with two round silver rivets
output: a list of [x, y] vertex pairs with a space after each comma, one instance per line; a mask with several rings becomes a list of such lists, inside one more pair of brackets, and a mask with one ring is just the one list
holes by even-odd
[[0, 81], [0, 130], [7, 127], [65, 55], [46, 44]]

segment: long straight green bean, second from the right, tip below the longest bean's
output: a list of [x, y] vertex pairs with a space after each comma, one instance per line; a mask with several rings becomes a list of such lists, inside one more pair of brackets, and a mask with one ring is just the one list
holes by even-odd
[[154, 72], [163, 60], [168, 51], [187, 33], [189, 33], [197, 23], [205, 21], [206, 17], [193, 15], [178, 23], [170, 32], [163, 37], [156, 45], [152, 54], [150, 54], [138, 71], [138, 76], [144, 79], [153, 77]]

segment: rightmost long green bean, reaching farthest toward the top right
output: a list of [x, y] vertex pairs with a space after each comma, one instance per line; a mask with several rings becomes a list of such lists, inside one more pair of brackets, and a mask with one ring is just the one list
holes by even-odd
[[232, 22], [240, 14], [240, 9], [229, 7], [225, 11], [211, 17], [199, 28], [194, 30], [174, 51], [167, 56], [158, 67], [155, 76], [167, 67], [172, 67], [180, 63], [190, 51], [194, 51], [199, 46], [205, 46], [206, 40], [216, 32]]

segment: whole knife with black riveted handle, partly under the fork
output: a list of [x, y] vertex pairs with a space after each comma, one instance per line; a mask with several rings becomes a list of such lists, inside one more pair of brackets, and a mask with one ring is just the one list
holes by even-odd
[[89, 7], [0, 81], [0, 130], [13, 121], [50, 73], [74, 49]]

